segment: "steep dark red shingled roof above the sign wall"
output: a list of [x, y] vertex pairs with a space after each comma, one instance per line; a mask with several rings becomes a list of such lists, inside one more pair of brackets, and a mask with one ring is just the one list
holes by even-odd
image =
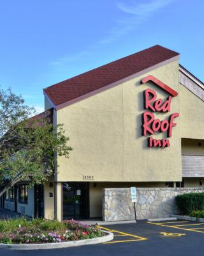
[[154, 45], [44, 89], [55, 106], [76, 99], [173, 58], [179, 53]]

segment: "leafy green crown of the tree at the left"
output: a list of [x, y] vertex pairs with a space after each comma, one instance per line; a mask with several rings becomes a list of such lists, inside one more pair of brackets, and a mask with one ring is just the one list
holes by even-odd
[[43, 184], [54, 175], [57, 155], [72, 150], [62, 124], [53, 127], [52, 110], [34, 115], [22, 96], [0, 90], [0, 196], [21, 180]]

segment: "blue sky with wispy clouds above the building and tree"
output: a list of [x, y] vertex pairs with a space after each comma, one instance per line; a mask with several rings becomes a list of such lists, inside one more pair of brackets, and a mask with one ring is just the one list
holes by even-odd
[[0, 84], [43, 111], [43, 88], [155, 44], [204, 81], [202, 0], [1, 0]]

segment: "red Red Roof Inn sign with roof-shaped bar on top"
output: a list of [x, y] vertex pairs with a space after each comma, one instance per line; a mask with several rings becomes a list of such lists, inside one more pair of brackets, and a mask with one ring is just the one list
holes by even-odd
[[[144, 108], [149, 111], [145, 111], [142, 115], [143, 125], [142, 125], [142, 133], [143, 136], [147, 136], [148, 134], [154, 135], [156, 132], [166, 132], [167, 137], [170, 138], [172, 136], [172, 129], [177, 124], [174, 122], [174, 119], [179, 116], [179, 113], [173, 113], [169, 116], [168, 119], [159, 120], [155, 117], [153, 113], [161, 112], [166, 113], [171, 110], [171, 99], [172, 97], [176, 97], [178, 95], [173, 89], [171, 89], [168, 85], [162, 83], [154, 76], [147, 76], [142, 79], [142, 83], [147, 83], [148, 81], [152, 81], [157, 86], [165, 90], [170, 94], [166, 100], [157, 99], [157, 93], [148, 88], [144, 91]], [[150, 136], [148, 138], [148, 146], [149, 147], [170, 147], [170, 141], [168, 139], [156, 140]]]

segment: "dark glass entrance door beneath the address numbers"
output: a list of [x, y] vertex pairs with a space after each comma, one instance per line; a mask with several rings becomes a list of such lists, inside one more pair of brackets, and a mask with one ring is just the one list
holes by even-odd
[[63, 220], [88, 217], [88, 183], [63, 182]]

